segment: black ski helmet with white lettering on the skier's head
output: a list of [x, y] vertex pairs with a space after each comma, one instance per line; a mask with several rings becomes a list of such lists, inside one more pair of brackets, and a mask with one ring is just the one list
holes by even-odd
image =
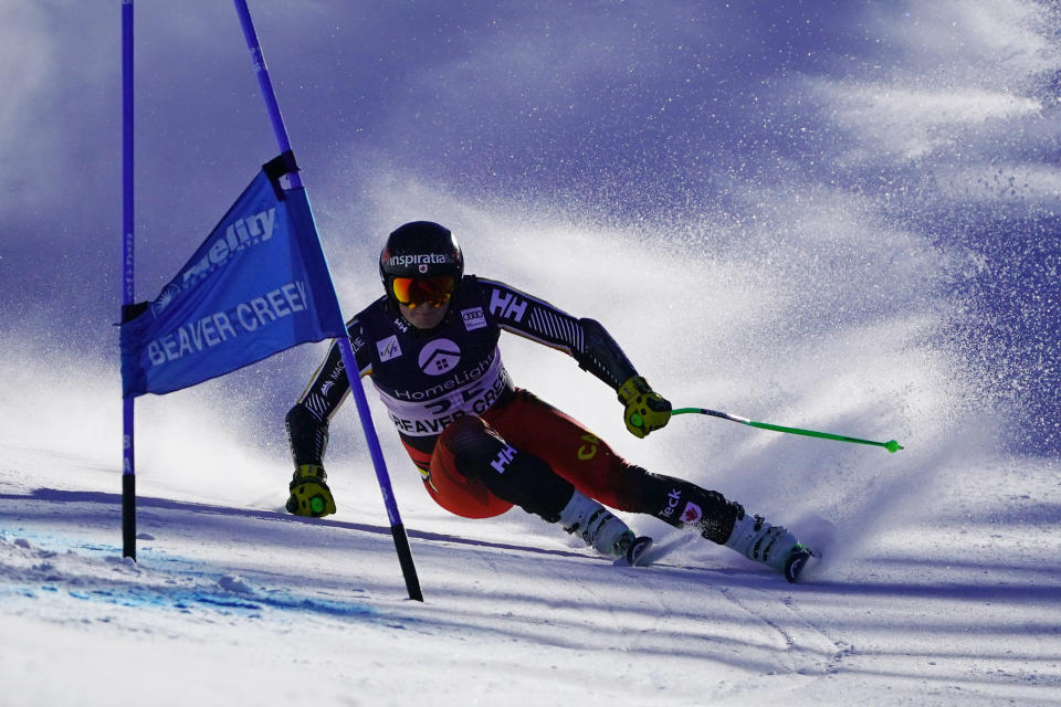
[[449, 275], [454, 287], [464, 274], [464, 255], [450, 230], [432, 221], [413, 221], [398, 226], [379, 254], [379, 278], [393, 299], [395, 277]]

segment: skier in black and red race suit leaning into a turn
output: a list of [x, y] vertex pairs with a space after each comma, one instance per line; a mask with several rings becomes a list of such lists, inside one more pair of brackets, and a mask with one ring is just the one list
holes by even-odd
[[[390, 234], [379, 276], [386, 294], [347, 325], [357, 373], [371, 378], [424, 488], [443, 508], [490, 518], [516, 505], [630, 564], [651, 539], [637, 537], [605, 506], [649, 514], [796, 581], [813, 553], [791, 532], [717, 492], [628, 463], [567, 414], [513, 386], [497, 347], [502, 329], [570, 355], [616, 390], [634, 436], [664, 426], [671, 403], [598, 321], [465, 275], [456, 240], [430, 221]], [[293, 514], [335, 513], [323, 457], [328, 423], [348, 392], [333, 344], [286, 416]]]

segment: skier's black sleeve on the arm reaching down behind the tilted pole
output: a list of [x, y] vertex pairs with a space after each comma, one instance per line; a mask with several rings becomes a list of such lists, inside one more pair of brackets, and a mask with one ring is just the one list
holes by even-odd
[[[361, 369], [358, 372], [364, 376], [371, 370], [371, 361], [367, 358], [367, 347], [363, 346], [364, 336], [357, 319], [347, 324], [347, 331], [355, 347], [354, 356]], [[298, 402], [287, 412], [287, 444], [295, 466], [322, 464], [328, 446], [328, 421], [349, 392], [350, 381], [343, 366], [339, 346], [333, 342], [324, 363], [317, 368]]]

